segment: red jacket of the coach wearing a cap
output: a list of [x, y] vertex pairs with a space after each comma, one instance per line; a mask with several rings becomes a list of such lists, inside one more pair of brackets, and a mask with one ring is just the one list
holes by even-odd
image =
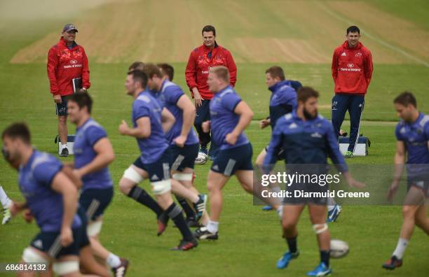
[[88, 57], [81, 45], [74, 43], [71, 50], [60, 41], [48, 52], [48, 78], [50, 93], [66, 96], [73, 94], [71, 79], [82, 78], [82, 87], [90, 87]]

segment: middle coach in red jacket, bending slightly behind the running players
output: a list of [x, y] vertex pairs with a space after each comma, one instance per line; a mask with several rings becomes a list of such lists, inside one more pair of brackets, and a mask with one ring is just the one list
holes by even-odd
[[[213, 93], [210, 92], [207, 85], [207, 76], [210, 67], [226, 66], [229, 69], [230, 83], [232, 86], [237, 80], [237, 66], [229, 50], [226, 50], [215, 41], [216, 30], [213, 26], [203, 27], [203, 45], [195, 48], [189, 55], [186, 65], [185, 77], [186, 84], [191, 90], [192, 98], [196, 106], [196, 118], [194, 126], [200, 139], [201, 152], [207, 154], [207, 144], [210, 142], [210, 133], [204, 133], [201, 124], [210, 120], [210, 99]], [[216, 156], [216, 145], [210, 145], [210, 158]]]

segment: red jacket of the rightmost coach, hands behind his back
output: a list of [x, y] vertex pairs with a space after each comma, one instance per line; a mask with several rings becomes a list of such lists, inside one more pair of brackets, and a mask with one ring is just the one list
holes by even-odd
[[332, 78], [335, 93], [366, 94], [372, 78], [372, 55], [362, 43], [348, 48], [345, 41], [334, 50]]

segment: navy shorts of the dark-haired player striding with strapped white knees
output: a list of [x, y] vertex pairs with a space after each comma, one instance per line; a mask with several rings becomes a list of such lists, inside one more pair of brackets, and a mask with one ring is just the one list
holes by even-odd
[[167, 148], [156, 162], [143, 164], [142, 159], [138, 157], [134, 165], [146, 171], [149, 174], [149, 180], [151, 182], [158, 182], [160, 180], [170, 179], [170, 162], [170, 148]]

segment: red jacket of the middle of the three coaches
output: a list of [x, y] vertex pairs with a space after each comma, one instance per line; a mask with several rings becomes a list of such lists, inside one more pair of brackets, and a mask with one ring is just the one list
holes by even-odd
[[189, 55], [188, 64], [186, 65], [185, 70], [185, 78], [186, 84], [188, 85], [189, 90], [191, 90], [192, 97], [192, 89], [193, 87], [196, 87], [203, 99], [213, 98], [213, 93], [210, 92], [207, 85], [207, 77], [210, 67], [226, 66], [229, 69], [229, 83], [231, 83], [232, 86], [236, 85], [237, 66], [231, 52], [222, 46], [217, 45], [217, 43], [214, 43], [214, 48], [211, 51], [211, 59], [207, 57], [210, 52], [210, 48], [207, 48], [205, 45], [195, 48], [191, 52], [191, 55]]

